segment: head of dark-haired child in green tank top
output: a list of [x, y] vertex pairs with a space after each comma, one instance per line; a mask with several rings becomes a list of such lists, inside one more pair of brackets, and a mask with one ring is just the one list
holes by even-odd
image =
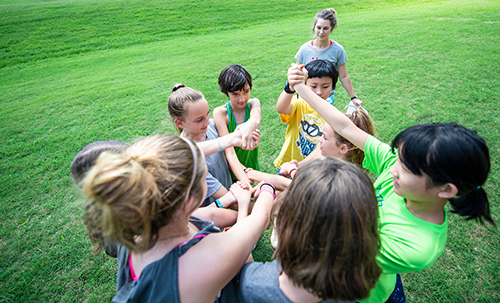
[[232, 64], [220, 73], [219, 88], [229, 97], [231, 106], [244, 107], [250, 99], [252, 77], [243, 66]]

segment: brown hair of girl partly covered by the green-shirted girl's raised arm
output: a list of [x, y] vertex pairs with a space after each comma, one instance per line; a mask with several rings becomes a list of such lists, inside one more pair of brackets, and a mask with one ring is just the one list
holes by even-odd
[[[346, 114], [346, 116], [351, 119], [351, 121], [356, 125], [359, 129], [364, 131], [367, 134], [372, 136], [375, 135], [375, 127], [373, 126], [372, 120], [370, 116], [362, 109], [358, 108], [352, 114]], [[349, 151], [345, 154], [346, 160], [357, 164], [359, 166], [363, 166], [363, 160], [365, 159], [365, 153], [357, 146], [351, 143], [351, 141], [339, 135], [335, 130], [335, 137], [337, 139], [337, 146], [341, 144], [346, 144], [349, 148]]]

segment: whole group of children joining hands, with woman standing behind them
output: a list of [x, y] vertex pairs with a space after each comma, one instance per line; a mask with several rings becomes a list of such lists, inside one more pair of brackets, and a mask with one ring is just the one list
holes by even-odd
[[[114, 302], [404, 302], [399, 274], [443, 252], [448, 201], [494, 224], [484, 140], [436, 123], [378, 141], [347, 56], [329, 39], [336, 26], [333, 9], [318, 12], [316, 38], [288, 70], [276, 104], [287, 124], [279, 174], [260, 172], [261, 105], [240, 65], [219, 76], [229, 101], [213, 121], [203, 94], [178, 84], [168, 100], [178, 136], [98, 141], [77, 153], [72, 176], [88, 198], [90, 239], [118, 260]], [[351, 96], [347, 114], [332, 105], [338, 79]], [[269, 225], [275, 260], [253, 262]]]

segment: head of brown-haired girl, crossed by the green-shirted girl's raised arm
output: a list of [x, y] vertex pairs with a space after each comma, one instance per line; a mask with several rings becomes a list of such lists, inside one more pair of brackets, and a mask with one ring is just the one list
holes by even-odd
[[[352, 114], [346, 114], [346, 116], [365, 133], [375, 135], [375, 127], [370, 116], [364, 110], [357, 109]], [[323, 126], [323, 135], [319, 140], [319, 144], [321, 155], [324, 157], [339, 158], [359, 166], [363, 165], [365, 159], [363, 150], [339, 135], [328, 123]]]

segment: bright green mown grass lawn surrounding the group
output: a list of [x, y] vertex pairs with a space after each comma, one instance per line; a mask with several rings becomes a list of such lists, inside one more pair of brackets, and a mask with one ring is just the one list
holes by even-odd
[[[228, 64], [262, 103], [261, 166], [284, 140], [275, 103], [286, 70], [333, 6], [355, 92], [389, 142], [404, 128], [454, 121], [487, 141], [484, 188], [500, 221], [500, 2], [208, 0], [0, 1], [0, 302], [101, 302], [116, 261], [90, 252], [69, 165], [95, 140], [174, 133], [167, 98], [182, 82], [211, 109]], [[338, 84], [336, 105], [348, 95]], [[500, 301], [500, 237], [450, 214], [445, 252], [402, 276], [409, 302]], [[269, 260], [267, 234], [254, 251]], [[221, 255], [224, 252], [221, 251]]]

